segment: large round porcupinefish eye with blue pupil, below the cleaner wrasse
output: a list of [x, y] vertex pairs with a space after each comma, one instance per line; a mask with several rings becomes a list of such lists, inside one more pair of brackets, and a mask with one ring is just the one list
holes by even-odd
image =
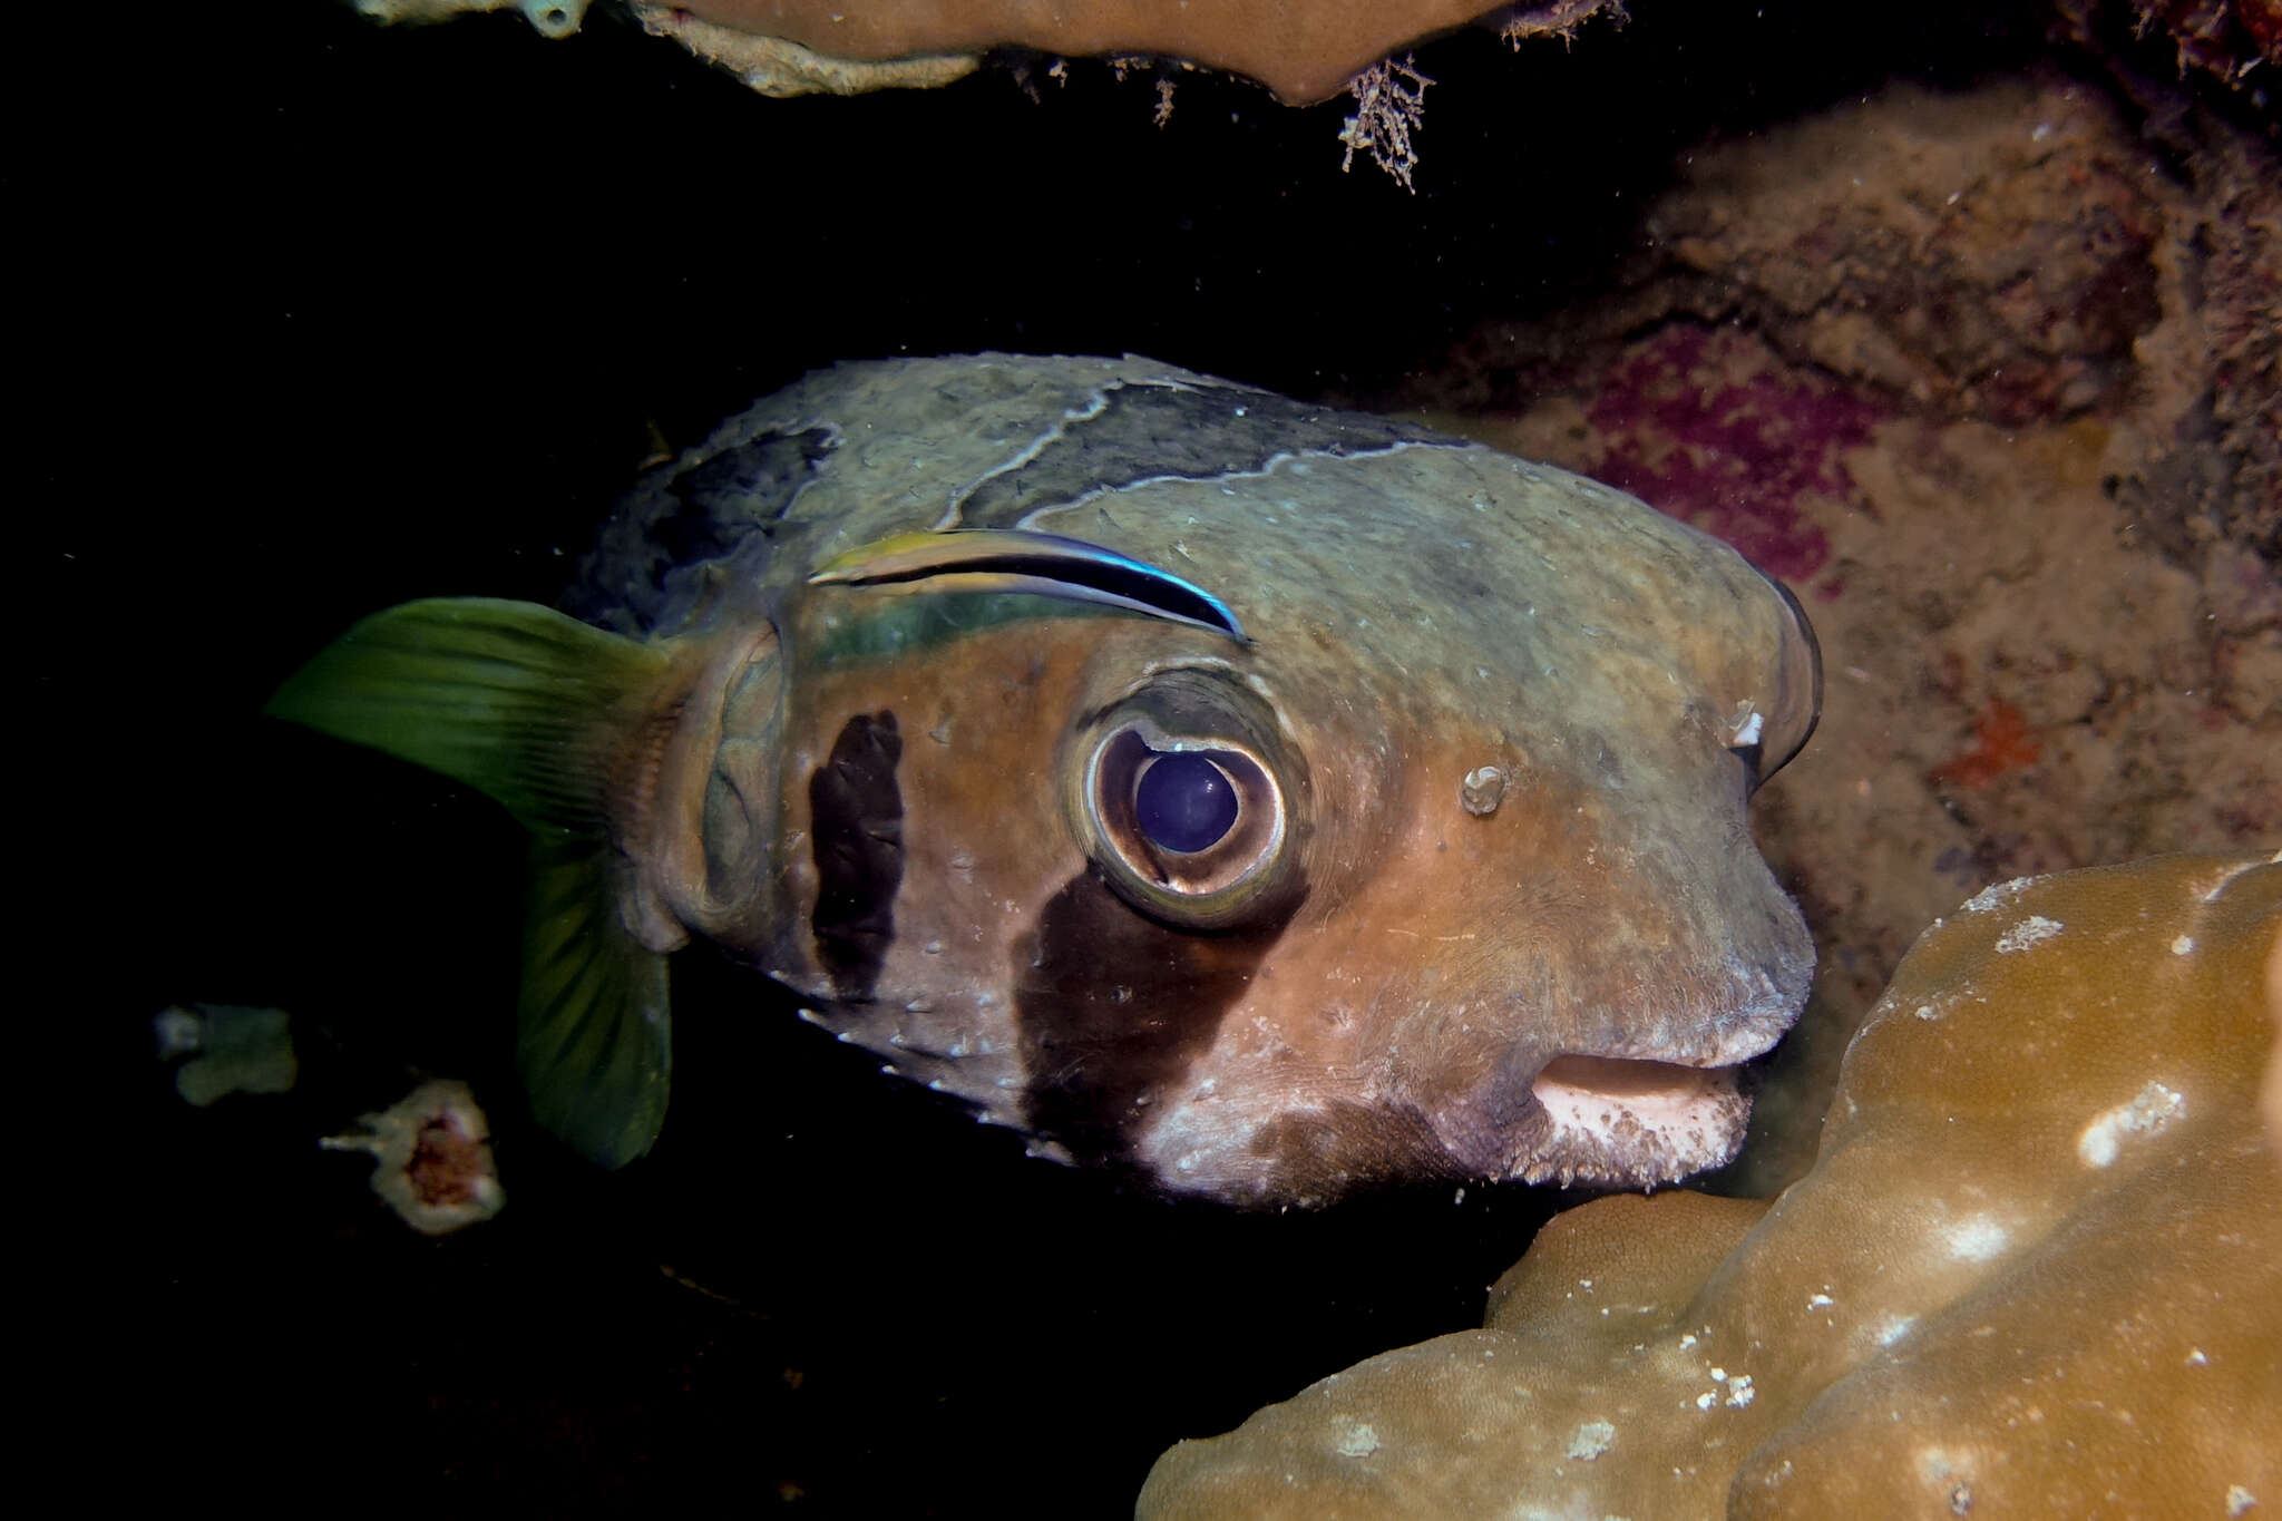
[[1264, 912], [1292, 878], [1292, 759], [1251, 693], [1175, 670], [1082, 732], [1073, 823], [1109, 887], [1182, 928]]

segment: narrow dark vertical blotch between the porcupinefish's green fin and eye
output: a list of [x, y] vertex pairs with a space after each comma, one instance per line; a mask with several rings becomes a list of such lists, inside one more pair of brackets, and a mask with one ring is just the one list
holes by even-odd
[[856, 714], [833, 741], [833, 757], [808, 778], [817, 853], [810, 928], [842, 999], [872, 997], [895, 942], [895, 889], [904, 882], [899, 759], [895, 714]]

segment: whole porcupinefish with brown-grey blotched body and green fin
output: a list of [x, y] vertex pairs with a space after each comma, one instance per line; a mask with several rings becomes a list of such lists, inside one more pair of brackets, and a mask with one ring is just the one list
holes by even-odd
[[1746, 803], [1807, 620], [1563, 470], [1141, 358], [858, 363], [657, 467], [566, 607], [381, 611], [272, 711], [529, 828], [520, 1072], [605, 1165], [691, 937], [1235, 1204], [1716, 1165], [1805, 1001]]

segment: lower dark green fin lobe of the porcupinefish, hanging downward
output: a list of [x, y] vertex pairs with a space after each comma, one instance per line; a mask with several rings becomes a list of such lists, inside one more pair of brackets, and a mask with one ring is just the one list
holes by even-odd
[[666, 958], [618, 921], [614, 851], [532, 844], [516, 1069], [532, 1115], [623, 1168], [657, 1140], [673, 1072]]

